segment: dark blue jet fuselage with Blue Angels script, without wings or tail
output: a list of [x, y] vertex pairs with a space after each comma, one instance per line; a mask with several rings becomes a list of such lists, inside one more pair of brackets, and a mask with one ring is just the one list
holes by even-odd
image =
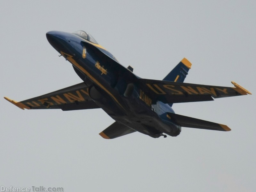
[[88, 93], [92, 100], [114, 120], [154, 138], [163, 133], [171, 136], [180, 133], [180, 126], [166, 115], [174, 113], [172, 108], [160, 101], [152, 103], [137, 84], [139, 77], [105, 48], [72, 33], [50, 31], [46, 36], [90, 86]]

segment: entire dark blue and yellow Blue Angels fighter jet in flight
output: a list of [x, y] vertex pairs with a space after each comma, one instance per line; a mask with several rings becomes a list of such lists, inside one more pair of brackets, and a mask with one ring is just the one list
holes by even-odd
[[83, 83], [20, 102], [4, 98], [21, 109], [102, 108], [115, 120], [100, 132], [105, 139], [136, 131], [153, 138], [177, 136], [181, 127], [230, 131], [223, 124], [175, 114], [172, 104], [251, 94], [234, 82], [235, 87], [183, 83], [191, 68], [186, 58], [162, 81], [142, 79], [132, 67], [122, 66], [89, 33], [50, 31], [46, 37], [72, 64]]

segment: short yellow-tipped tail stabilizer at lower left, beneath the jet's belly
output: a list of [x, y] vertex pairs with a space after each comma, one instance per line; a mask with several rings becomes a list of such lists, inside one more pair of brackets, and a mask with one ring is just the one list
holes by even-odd
[[133, 132], [136, 131], [121, 123], [115, 122], [108, 126], [108, 128], [106, 128], [104, 131], [100, 132], [99, 134], [104, 139], [114, 139], [116, 137], [121, 137], [123, 135], [127, 135]]

